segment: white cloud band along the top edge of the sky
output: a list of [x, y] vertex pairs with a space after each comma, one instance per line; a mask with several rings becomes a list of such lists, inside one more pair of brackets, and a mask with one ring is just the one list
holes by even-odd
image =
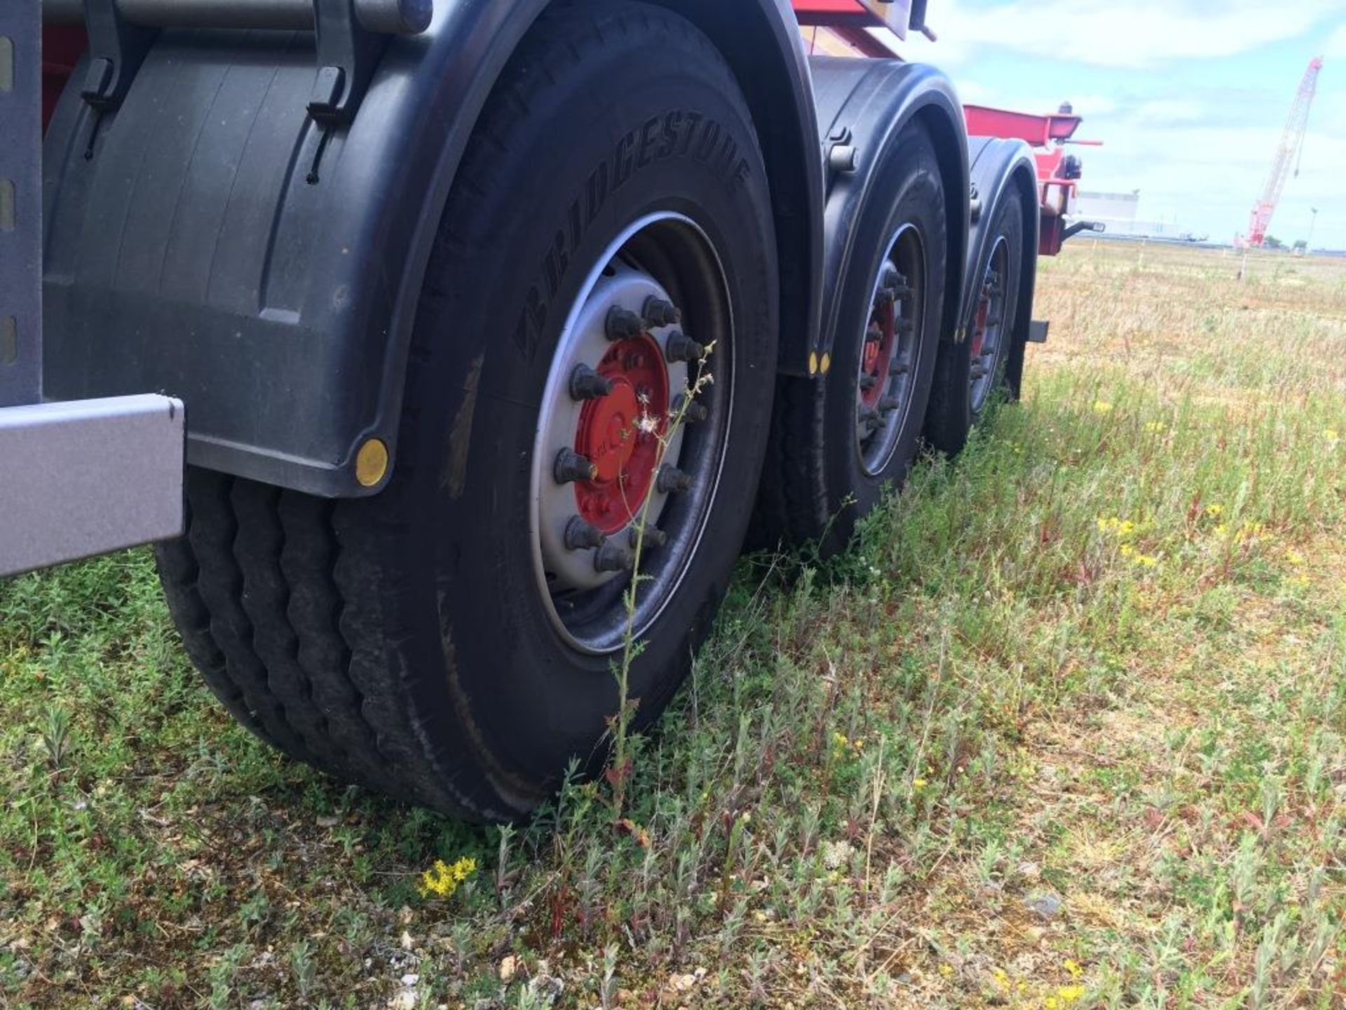
[[[958, 65], [977, 50], [1004, 48], [1094, 66], [1148, 67], [1249, 53], [1295, 38], [1334, 13], [1346, 13], [1346, 0], [1300, 0], [1275, 12], [1265, 0], [1012, 0], [985, 8], [948, 0], [930, 11], [940, 43], [931, 47], [914, 36], [905, 53]], [[1346, 47], [1346, 27], [1330, 44]]]

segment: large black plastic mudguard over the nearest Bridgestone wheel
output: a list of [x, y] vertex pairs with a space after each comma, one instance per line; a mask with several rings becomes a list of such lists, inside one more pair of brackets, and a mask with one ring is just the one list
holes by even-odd
[[[187, 404], [190, 463], [328, 497], [377, 492], [355, 455], [378, 438], [396, 459], [448, 190], [546, 3], [436, 0], [428, 32], [389, 42], [345, 127], [308, 114], [311, 32], [164, 30], [118, 109], [100, 117], [67, 89], [44, 147], [47, 395], [167, 392]], [[824, 183], [793, 13], [786, 0], [662, 3], [720, 44], [752, 105], [789, 264], [785, 357], [802, 369]], [[501, 308], [507, 330], [522, 307]]]

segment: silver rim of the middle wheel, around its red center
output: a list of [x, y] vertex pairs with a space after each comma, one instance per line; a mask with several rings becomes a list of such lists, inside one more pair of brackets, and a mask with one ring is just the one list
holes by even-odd
[[[856, 455], [860, 469], [868, 477], [880, 477], [892, 462], [902, 431], [906, 427], [915, 393], [915, 378], [921, 365], [921, 333], [925, 329], [926, 277], [929, 276], [925, 242], [919, 229], [903, 224], [888, 241], [888, 253], [870, 294], [870, 315], [861, 334], [861, 353], [856, 376], [855, 431]], [[895, 346], [883, 373], [879, 401], [892, 400], [890, 409], [879, 412], [878, 424], [868, 415], [865, 391], [861, 388], [865, 369], [864, 347], [870, 342], [870, 327], [879, 311], [880, 294], [887, 284], [896, 283], [910, 294], [896, 299]]]

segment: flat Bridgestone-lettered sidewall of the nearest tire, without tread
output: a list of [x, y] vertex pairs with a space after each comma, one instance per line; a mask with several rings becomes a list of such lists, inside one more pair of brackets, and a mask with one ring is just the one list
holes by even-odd
[[[610, 242], [649, 214], [682, 214], [707, 234], [728, 283], [736, 347], [716, 504], [697, 560], [631, 668], [638, 723], [668, 700], [708, 632], [747, 523], [736, 504], [756, 489], [778, 304], [766, 174], [732, 78], [708, 42], [678, 27], [658, 53], [612, 46], [565, 88], [537, 96], [528, 113], [537, 129], [513, 133], [513, 170], [502, 168], [485, 201], [468, 194], [485, 206], [460, 213], [456, 238], [474, 255], [444, 257], [428, 279], [441, 296], [417, 323], [437, 333], [408, 377], [412, 420], [398, 450], [408, 466], [389, 489], [411, 524], [400, 566], [413, 583], [402, 594], [411, 634], [400, 660], [420, 722], [455, 712], [516, 805], [541, 799], [571, 757], [595, 760], [618, 708], [612, 657], [565, 644], [541, 598], [532, 452], [565, 318]], [[673, 112], [682, 127], [670, 140]], [[719, 129], [713, 144], [708, 124]], [[603, 166], [606, 195], [594, 183]], [[432, 751], [439, 739], [424, 734]], [[443, 768], [455, 765], [444, 758]]]

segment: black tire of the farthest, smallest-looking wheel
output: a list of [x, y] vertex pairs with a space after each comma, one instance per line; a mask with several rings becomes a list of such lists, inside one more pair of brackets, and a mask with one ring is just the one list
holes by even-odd
[[[996, 206], [987, 238], [985, 252], [976, 265], [973, 277], [983, 285], [977, 296], [970, 299], [968, 316], [964, 319], [964, 333], [968, 339], [961, 343], [940, 345], [940, 358], [935, 364], [934, 389], [930, 395], [930, 413], [926, 417], [926, 440], [941, 452], [957, 455], [968, 444], [972, 428], [985, 416], [995, 403], [996, 395], [1004, 389], [1005, 369], [1014, 353], [1014, 339], [1018, 331], [1019, 292], [1023, 280], [1023, 197], [1019, 190], [1008, 190]], [[1000, 316], [995, 331], [995, 347], [989, 354], [976, 339], [977, 314], [981, 311], [981, 296], [987, 288], [988, 273], [997, 249], [1004, 249], [1004, 272], [996, 283], [1003, 290], [1003, 298], [988, 304], [987, 311]], [[987, 330], [987, 327], [981, 327]], [[979, 374], [973, 373], [979, 370]], [[985, 380], [981, 377], [985, 373]], [[980, 384], [980, 385], [979, 385]], [[980, 389], [980, 392], [979, 392]]]

